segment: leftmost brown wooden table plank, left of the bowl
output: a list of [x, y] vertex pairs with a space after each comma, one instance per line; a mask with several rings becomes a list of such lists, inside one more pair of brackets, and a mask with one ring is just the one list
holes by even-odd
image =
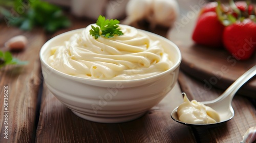
[[[0, 142], [31, 142], [35, 128], [38, 87], [41, 83], [39, 50], [46, 41], [42, 30], [23, 32], [17, 28], [0, 25], [0, 48], [13, 36], [24, 35], [28, 38], [25, 51], [13, 53], [19, 60], [28, 61], [25, 66], [8, 65], [0, 69]], [[8, 111], [4, 112], [4, 86], [8, 86]], [[8, 114], [6, 116], [4, 114]], [[4, 124], [4, 121], [8, 125]], [[4, 131], [8, 126], [8, 139]]]

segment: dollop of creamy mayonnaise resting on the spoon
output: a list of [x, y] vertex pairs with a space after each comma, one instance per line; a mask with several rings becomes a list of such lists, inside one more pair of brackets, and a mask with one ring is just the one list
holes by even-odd
[[212, 108], [192, 100], [186, 94], [184, 102], [178, 108], [178, 117], [181, 122], [189, 124], [212, 124], [220, 122], [220, 115]]

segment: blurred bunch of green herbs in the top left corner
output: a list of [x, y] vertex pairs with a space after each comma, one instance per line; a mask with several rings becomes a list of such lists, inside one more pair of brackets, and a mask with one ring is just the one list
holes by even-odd
[[0, 0], [0, 14], [7, 25], [22, 30], [32, 30], [35, 26], [43, 27], [46, 32], [55, 32], [71, 25], [61, 8], [40, 0]]

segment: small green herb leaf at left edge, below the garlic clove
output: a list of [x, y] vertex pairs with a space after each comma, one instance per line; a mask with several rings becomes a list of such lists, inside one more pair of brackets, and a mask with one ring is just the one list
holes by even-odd
[[0, 68], [2, 68], [5, 65], [14, 64], [14, 65], [25, 65], [28, 64], [27, 61], [20, 61], [16, 58], [12, 57], [12, 54], [7, 51], [3, 52], [0, 51]]

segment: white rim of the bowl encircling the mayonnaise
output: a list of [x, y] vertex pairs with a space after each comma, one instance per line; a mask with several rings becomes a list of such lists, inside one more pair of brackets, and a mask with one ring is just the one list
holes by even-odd
[[[90, 25], [89, 25], [90, 26]], [[125, 25], [126, 26], [126, 25]], [[156, 78], [156, 77], [159, 77], [159, 76], [162, 76], [162, 75], [165, 75], [166, 73], [169, 73], [170, 71], [172, 70], [175, 70], [177, 67], [180, 66], [181, 64], [181, 60], [182, 60], [182, 56], [181, 56], [181, 52], [179, 50], [179, 47], [174, 43], [172, 42], [171, 40], [163, 37], [163, 36], [160, 36], [158, 34], [155, 34], [155, 33], [152, 33], [152, 32], [148, 32], [148, 31], [145, 31], [145, 30], [141, 30], [141, 29], [137, 29], [138, 31], [141, 31], [141, 32], [144, 32], [146, 33], [147, 35], [150, 35], [150, 36], [153, 36], [153, 37], [156, 37], [157, 39], [161, 39], [163, 41], [165, 41], [166, 43], [169, 43], [170, 45], [172, 45], [175, 50], [177, 51], [176, 53], [178, 54], [178, 59], [177, 59], [177, 62], [174, 63], [174, 65], [172, 67], [170, 67], [169, 69], [163, 71], [162, 73], [159, 73], [159, 74], [156, 74], [156, 75], [153, 75], [153, 76], [149, 76], [149, 77], [144, 77], [144, 78], [139, 78], [139, 79], [129, 79], [129, 80], [111, 80], [111, 79], [90, 79], [90, 78], [84, 78], [84, 77], [77, 77], [77, 76], [73, 76], [73, 75], [69, 75], [69, 74], [65, 74], [65, 73], [62, 73], [61, 71], [58, 71], [57, 69], [53, 68], [52, 66], [50, 66], [45, 58], [44, 58], [44, 53], [45, 51], [49, 48], [49, 44], [54, 41], [55, 39], [58, 39], [59, 37], [63, 36], [63, 35], [67, 35], [67, 34], [70, 34], [70, 33], [75, 33], [75, 32], [79, 32], [79, 31], [83, 31], [85, 28], [79, 28], [79, 29], [75, 29], [75, 30], [70, 30], [70, 31], [67, 31], [67, 32], [64, 32], [64, 33], [61, 33], [59, 35], [56, 35], [54, 37], [52, 37], [51, 39], [49, 39], [47, 42], [44, 43], [44, 45], [41, 46], [41, 49], [39, 51], [39, 59], [41, 61], [41, 64], [44, 64], [47, 68], [50, 68], [52, 72], [55, 72], [57, 75], [61, 76], [61, 77], [65, 77], [65, 78], [68, 78], [68, 79], [71, 79], [71, 80], [79, 80], [79, 81], [91, 81], [91, 82], [112, 82], [112, 83], [116, 83], [116, 82], [138, 82], [138, 81], [144, 81], [144, 80], [148, 80], [148, 79], [152, 79], [152, 78]], [[43, 66], [43, 65], [41, 65]], [[42, 67], [43, 68], [43, 67]]]

